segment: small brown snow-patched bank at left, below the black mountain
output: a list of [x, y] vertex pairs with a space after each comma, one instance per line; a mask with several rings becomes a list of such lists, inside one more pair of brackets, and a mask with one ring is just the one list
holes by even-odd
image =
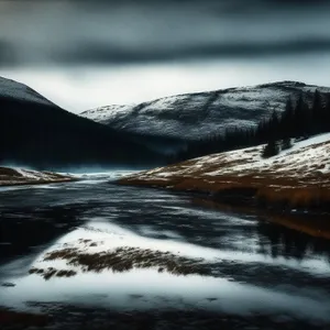
[[38, 172], [18, 167], [0, 167], [0, 187], [22, 185], [44, 185], [78, 180], [72, 175], [54, 172]]

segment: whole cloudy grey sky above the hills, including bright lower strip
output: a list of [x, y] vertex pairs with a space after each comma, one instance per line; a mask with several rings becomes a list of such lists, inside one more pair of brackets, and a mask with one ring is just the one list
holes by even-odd
[[327, 0], [0, 1], [0, 76], [81, 112], [184, 92], [330, 86]]

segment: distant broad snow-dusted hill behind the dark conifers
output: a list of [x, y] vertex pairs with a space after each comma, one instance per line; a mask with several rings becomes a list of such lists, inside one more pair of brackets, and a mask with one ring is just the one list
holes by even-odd
[[327, 87], [282, 81], [103, 107], [81, 116], [124, 132], [197, 140], [231, 127], [255, 125], [273, 110], [283, 111], [289, 97], [295, 100], [302, 92], [311, 101], [316, 89], [330, 92]]

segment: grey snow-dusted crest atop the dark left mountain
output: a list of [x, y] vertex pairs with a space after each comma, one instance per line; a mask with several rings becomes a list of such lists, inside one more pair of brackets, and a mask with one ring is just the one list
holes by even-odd
[[0, 98], [11, 98], [45, 106], [55, 106], [32, 88], [3, 77], [0, 77]]

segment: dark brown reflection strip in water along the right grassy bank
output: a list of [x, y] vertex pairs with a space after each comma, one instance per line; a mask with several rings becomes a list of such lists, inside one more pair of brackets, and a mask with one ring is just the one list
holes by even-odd
[[[329, 204], [326, 208], [283, 208], [280, 204], [264, 204], [256, 200], [255, 188], [248, 187], [246, 194], [233, 194], [235, 189], [227, 191], [207, 191], [195, 188], [177, 189], [175, 186], [157, 185], [155, 183], [142, 183], [133, 179], [121, 178], [118, 185], [144, 187], [151, 189], [166, 189], [178, 194], [188, 194], [191, 202], [198, 206], [216, 208], [232, 212], [244, 212], [260, 216], [265, 221], [274, 222], [288, 229], [309, 234], [315, 238], [330, 240], [330, 211]], [[242, 191], [242, 189], [241, 189]], [[226, 193], [231, 193], [226, 195]], [[244, 189], [243, 189], [244, 193]]]

